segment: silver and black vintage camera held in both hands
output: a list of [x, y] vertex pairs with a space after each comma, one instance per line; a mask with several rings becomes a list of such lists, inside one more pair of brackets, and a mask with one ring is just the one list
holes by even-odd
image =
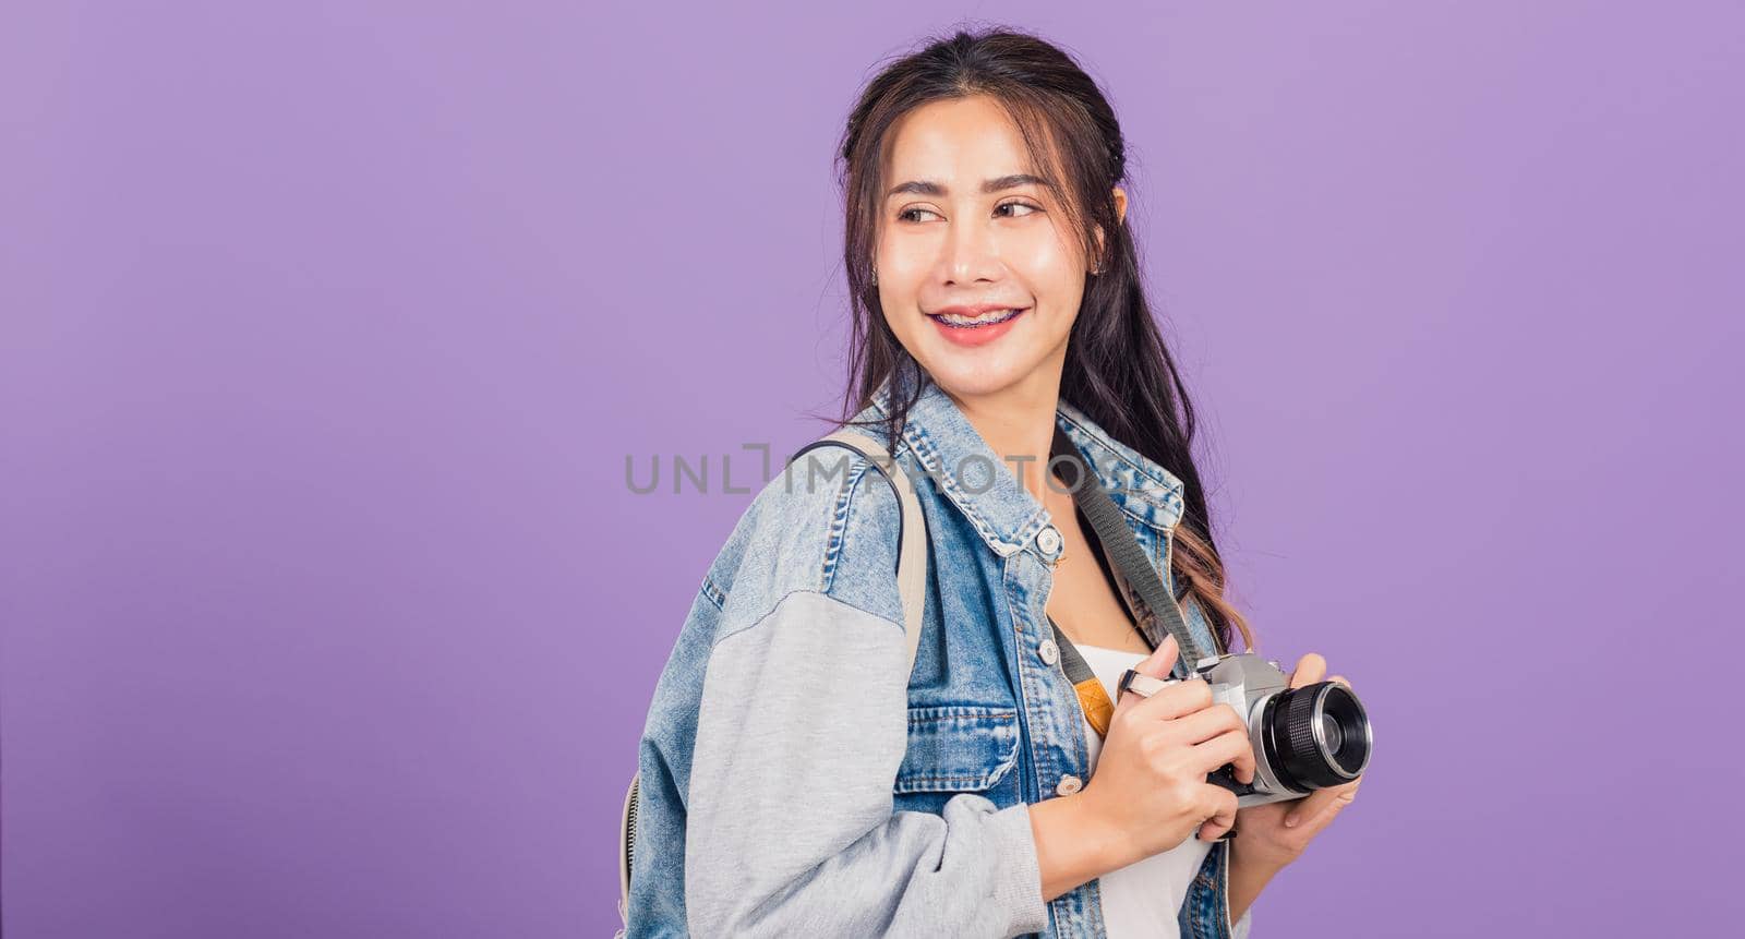
[[[1211, 686], [1213, 703], [1227, 703], [1248, 721], [1255, 782], [1237, 782], [1230, 764], [1206, 777], [1235, 792], [1239, 808], [1300, 799], [1316, 789], [1347, 784], [1370, 764], [1375, 735], [1351, 688], [1337, 681], [1290, 688], [1279, 663], [1255, 653], [1202, 658], [1192, 672]], [[1129, 670], [1122, 689], [1150, 696], [1176, 681]]]

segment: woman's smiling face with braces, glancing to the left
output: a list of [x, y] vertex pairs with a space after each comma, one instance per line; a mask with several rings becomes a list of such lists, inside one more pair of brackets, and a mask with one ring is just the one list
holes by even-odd
[[958, 398], [1057, 391], [1087, 265], [1017, 127], [972, 96], [892, 134], [874, 264], [897, 340]]

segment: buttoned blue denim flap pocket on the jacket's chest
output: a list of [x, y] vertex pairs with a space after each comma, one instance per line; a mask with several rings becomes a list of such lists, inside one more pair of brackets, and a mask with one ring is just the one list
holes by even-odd
[[1017, 764], [1012, 707], [944, 705], [909, 709], [909, 749], [897, 794], [986, 792]]

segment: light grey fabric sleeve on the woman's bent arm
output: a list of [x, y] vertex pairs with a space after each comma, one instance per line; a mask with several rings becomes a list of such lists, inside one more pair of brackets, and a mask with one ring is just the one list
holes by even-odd
[[[883, 485], [883, 483], [881, 483]], [[1047, 925], [1030, 806], [892, 812], [902, 625], [792, 590], [715, 642], [691, 766], [695, 936], [1014, 936]]]

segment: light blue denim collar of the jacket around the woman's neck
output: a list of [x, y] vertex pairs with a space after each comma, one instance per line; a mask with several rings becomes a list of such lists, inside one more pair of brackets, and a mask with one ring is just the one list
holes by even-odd
[[[1017, 482], [1012, 464], [995, 454], [942, 387], [925, 377], [921, 386], [904, 422], [902, 442], [935, 489], [963, 511], [995, 553], [1007, 557], [1021, 552], [1050, 524], [1049, 511]], [[909, 387], [902, 384], [899, 391]], [[886, 380], [860, 419], [888, 415], [892, 391], [893, 382]], [[1181, 520], [1181, 480], [1110, 436], [1064, 400], [1057, 403], [1054, 419], [1122, 511], [1160, 532], [1174, 529]], [[1040, 471], [1040, 461], [1024, 466], [1026, 475]]]

